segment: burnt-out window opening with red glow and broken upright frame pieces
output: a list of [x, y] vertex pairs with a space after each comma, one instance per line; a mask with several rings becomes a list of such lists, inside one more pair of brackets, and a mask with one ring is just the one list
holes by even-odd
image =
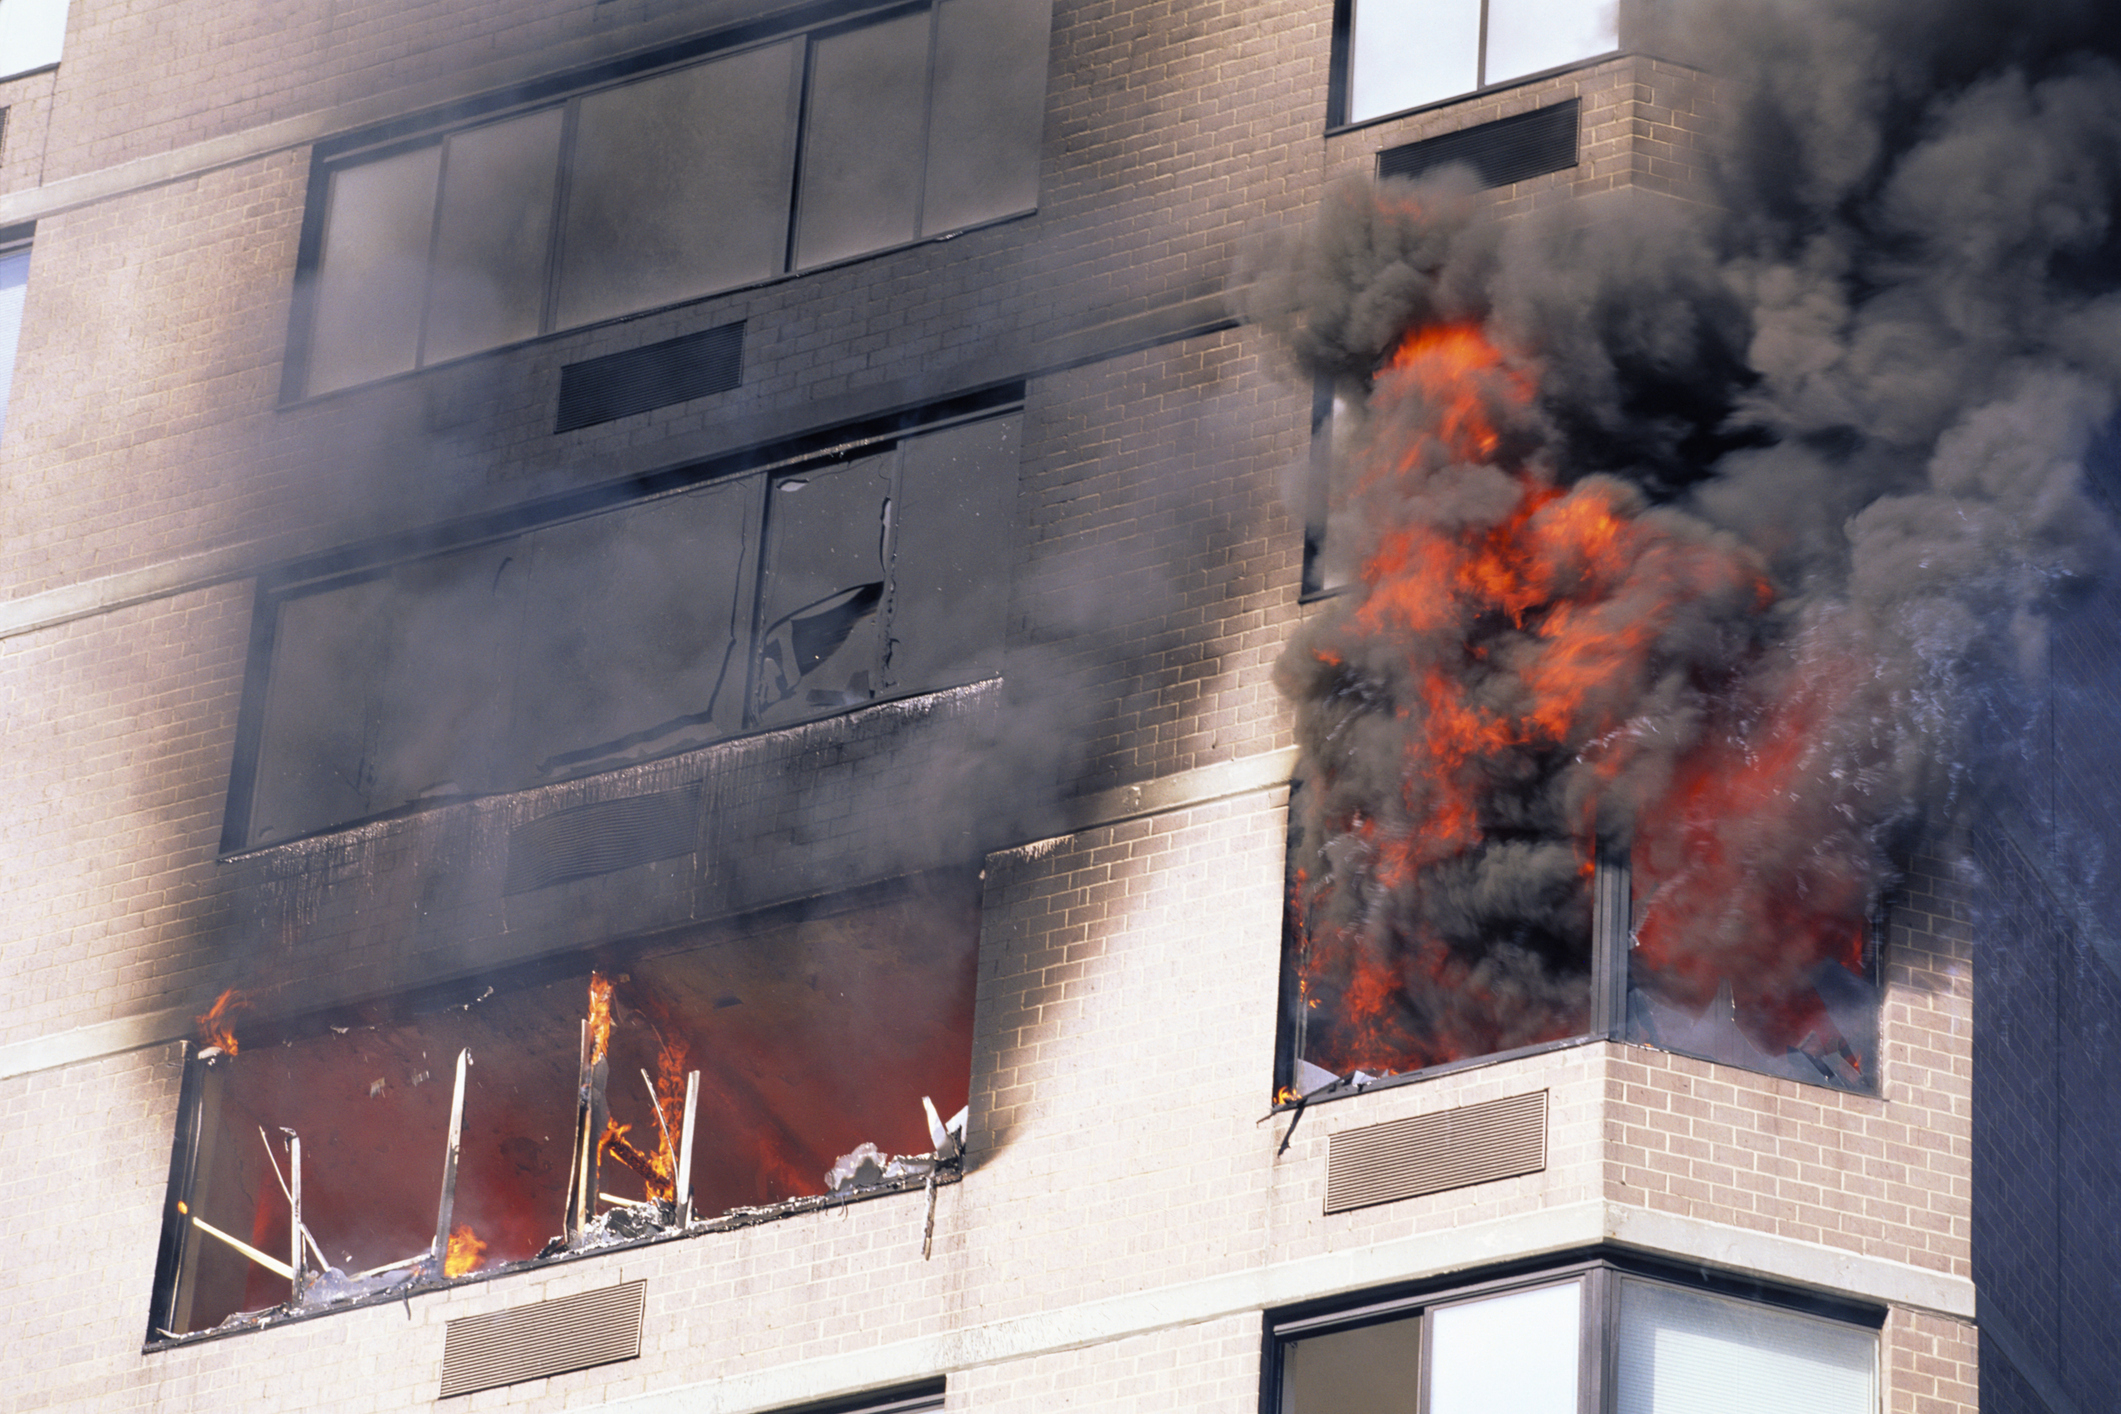
[[974, 884], [927, 876], [244, 1043], [216, 1005], [151, 1344], [921, 1187], [927, 1253], [978, 920]]

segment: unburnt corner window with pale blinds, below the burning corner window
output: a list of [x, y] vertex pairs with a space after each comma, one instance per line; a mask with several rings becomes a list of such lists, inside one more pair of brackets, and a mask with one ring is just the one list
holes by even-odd
[[1262, 1414], [1873, 1414], [1883, 1312], [1633, 1259], [1268, 1319]]

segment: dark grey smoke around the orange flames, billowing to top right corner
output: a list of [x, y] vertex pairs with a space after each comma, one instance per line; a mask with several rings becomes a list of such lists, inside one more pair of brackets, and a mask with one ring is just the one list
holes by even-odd
[[[1580, 837], [1587, 801], [1637, 865], [1722, 859], [1714, 905], [1688, 916], [1699, 956], [1673, 962], [1693, 969], [1686, 1001], [1733, 969], [1796, 977], [1818, 954], [1775, 960], [1748, 939], [1792, 909], [1858, 920], [1907, 831], [2009, 776], [2047, 619], [2113, 553], [2087, 466], [2121, 401], [2121, 13], [1671, 0], [1648, 34], [1714, 76], [1697, 199], [1616, 193], [1497, 220], [1451, 176], [1343, 184], [1256, 295], [1296, 365], [1353, 409], [1362, 485], [1334, 530], [1357, 562], [1408, 526], [1493, 528], [1483, 498], [1517, 475], [1572, 494], [1625, 483], [1652, 507], [1629, 511], [1654, 530], [1644, 555], [1695, 547], [1771, 587], [1765, 608], [1667, 604], [1614, 678], [1618, 725], [1489, 753], [1489, 844], [1415, 882], [1383, 878], [1351, 823], [1406, 793], [1406, 733], [1427, 729], [1415, 659], [1436, 644], [1381, 636], [1366, 579], [1290, 649], [1313, 931], [1398, 967], [1408, 996], [1410, 950], [1472, 975], [1540, 950], [1523, 939], [1567, 914], [1570, 861], [1536, 844]], [[1478, 464], [1381, 477], [1442, 409], [1379, 369], [1444, 322], [1483, 324], [1531, 403], [1489, 399], [1502, 441]], [[1623, 600], [1603, 611], [1654, 613]], [[1512, 642], [1459, 638], [1476, 644], [1468, 691], [1527, 691]], [[1688, 770], [1712, 761], [1758, 789], [1682, 820]], [[1578, 962], [1548, 954], [1567, 994]]]

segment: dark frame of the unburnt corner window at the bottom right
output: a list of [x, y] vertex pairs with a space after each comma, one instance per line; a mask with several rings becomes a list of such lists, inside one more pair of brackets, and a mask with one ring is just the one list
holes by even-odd
[[[1432, 1359], [1432, 1312], [1459, 1302], [1493, 1295], [1512, 1295], [1540, 1287], [1559, 1287], [1567, 1280], [1582, 1283], [1582, 1306], [1578, 1323], [1578, 1378], [1576, 1414], [1612, 1414], [1618, 1399], [1618, 1353], [1620, 1353], [1620, 1280], [1648, 1280], [1684, 1291], [1718, 1295], [1726, 1300], [1765, 1306], [1777, 1312], [1794, 1312], [1820, 1321], [1835, 1321], [1873, 1333], [1886, 1325], [1886, 1308], [1856, 1297], [1837, 1297], [1782, 1283], [1724, 1272], [1699, 1263], [1678, 1263], [1652, 1253], [1635, 1253], [1614, 1247], [1578, 1249], [1550, 1257], [1536, 1257], [1487, 1268], [1483, 1272], [1455, 1272], [1415, 1283], [1402, 1283], [1366, 1293], [1324, 1297], [1262, 1312], [1260, 1321], [1260, 1414], [1283, 1414], [1283, 1346], [1290, 1340], [1324, 1336], [1332, 1331], [1383, 1325], [1389, 1321], [1419, 1321], [1421, 1380], [1417, 1414], [1430, 1414], [1430, 1369]], [[1883, 1391], [1883, 1380], [1879, 1380]]]

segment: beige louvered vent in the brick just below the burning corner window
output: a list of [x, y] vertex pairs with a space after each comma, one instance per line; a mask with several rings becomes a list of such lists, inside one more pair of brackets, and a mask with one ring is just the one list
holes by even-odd
[[1546, 1092], [1334, 1134], [1326, 1210], [1442, 1194], [1546, 1168]]

